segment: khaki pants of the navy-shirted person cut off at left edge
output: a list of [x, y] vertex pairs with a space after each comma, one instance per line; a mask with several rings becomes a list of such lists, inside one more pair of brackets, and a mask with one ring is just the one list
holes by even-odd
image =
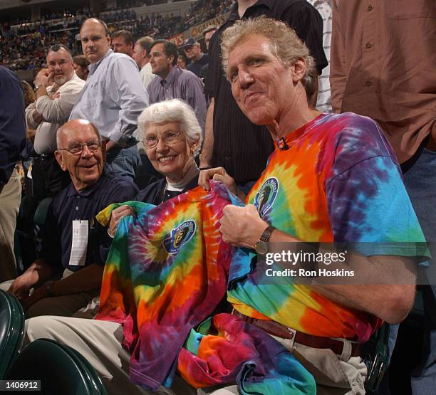
[[21, 177], [16, 169], [0, 191], [0, 283], [16, 278], [14, 232], [21, 202]]

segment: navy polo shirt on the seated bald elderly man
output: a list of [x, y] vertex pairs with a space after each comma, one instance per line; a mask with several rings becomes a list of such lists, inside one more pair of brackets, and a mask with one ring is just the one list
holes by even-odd
[[83, 268], [68, 265], [71, 254], [71, 242], [74, 220], [88, 220], [88, 249], [85, 266], [92, 263], [105, 264], [112, 239], [107, 228], [95, 220], [95, 215], [109, 204], [132, 200], [137, 194], [137, 186], [127, 177], [116, 176], [108, 169], [98, 181], [89, 188], [78, 192], [71, 184], [59, 192], [48, 208], [45, 237], [41, 258], [56, 266], [61, 272], [63, 268], [77, 271]]

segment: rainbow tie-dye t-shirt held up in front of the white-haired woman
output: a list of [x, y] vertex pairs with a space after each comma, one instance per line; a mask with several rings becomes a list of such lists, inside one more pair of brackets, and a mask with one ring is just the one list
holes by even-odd
[[159, 206], [130, 204], [142, 209], [120, 221], [96, 318], [123, 323], [135, 383], [156, 389], [172, 376], [190, 330], [224, 297], [232, 247], [219, 218], [231, 202], [222, 185], [197, 187]]

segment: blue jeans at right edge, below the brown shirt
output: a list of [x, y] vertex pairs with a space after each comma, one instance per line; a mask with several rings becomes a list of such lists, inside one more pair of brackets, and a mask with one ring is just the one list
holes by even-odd
[[[436, 242], [436, 152], [422, 149], [417, 161], [404, 174], [404, 183], [427, 242], [431, 243], [432, 263]], [[436, 393], [436, 285], [426, 285], [424, 303], [424, 343], [422, 362], [412, 372], [412, 392], [415, 395]]]

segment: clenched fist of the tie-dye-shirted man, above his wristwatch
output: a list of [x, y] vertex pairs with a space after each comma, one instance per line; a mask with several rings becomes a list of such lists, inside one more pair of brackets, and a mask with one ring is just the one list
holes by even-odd
[[222, 211], [219, 220], [222, 240], [237, 247], [254, 248], [260, 236], [268, 227], [252, 204], [244, 207], [229, 204]]

